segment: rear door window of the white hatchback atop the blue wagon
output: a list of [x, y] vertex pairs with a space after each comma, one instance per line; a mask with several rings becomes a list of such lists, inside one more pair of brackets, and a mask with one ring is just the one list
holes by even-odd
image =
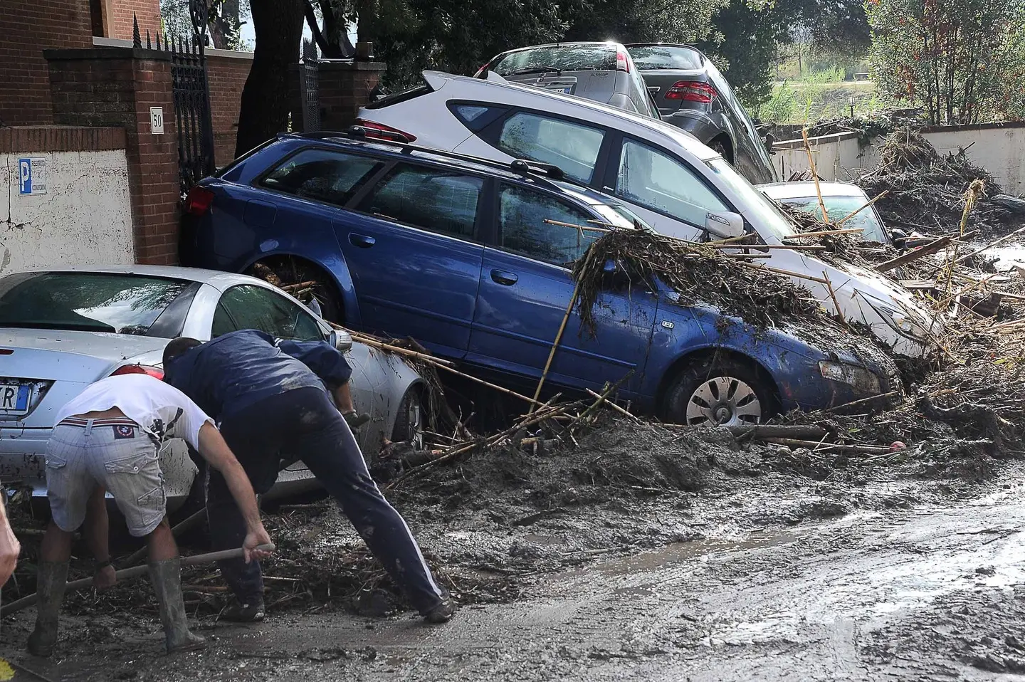
[[498, 148], [518, 159], [550, 163], [589, 184], [605, 133], [579, 123], [520, 112], [502, 123]]

